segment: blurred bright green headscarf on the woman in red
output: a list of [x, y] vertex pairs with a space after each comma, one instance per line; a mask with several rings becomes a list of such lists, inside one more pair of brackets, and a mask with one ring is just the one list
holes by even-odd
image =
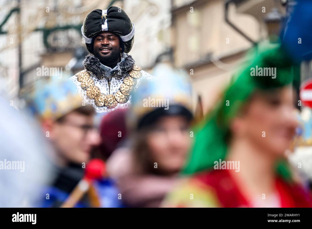
[[[225, 159], [230, 137], [230, 123], [256, 90], [269, 91], [280, 88], [292, 83], [294, 77], [300, 76], [299, 67], [294, 65], [280, 45], [261, 53], [257, 53], [255, 48], [247, 57], [249, 60], [246, 63], [247, 67], [233, 76], [216, 109], [195, 128], [195, 141], [184, 169], [185, 174], [211, 169], [214, 161]], [[276, 68], [276, 78], [275, 76], [255, 76], [252, 73], [253, 68]], [[227, 101], [230, 102], [230, 106], [227, 106]], [[290, 178], [285, 162], [277, 165], [277, 170], [284, 178]]]

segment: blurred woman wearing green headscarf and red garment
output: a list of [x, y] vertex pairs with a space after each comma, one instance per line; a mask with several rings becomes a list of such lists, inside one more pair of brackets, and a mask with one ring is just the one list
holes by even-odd
[[[193, 175], [164, 206], [312, 206], [311, 195], [285, 159], [296, 127], [291, 83], [299, 74], [280, 46], [255, 53], [194, 130], [195, 144], [184, 170]], [[276, 68], [276, 78], [252, 76], [256, 66]]]

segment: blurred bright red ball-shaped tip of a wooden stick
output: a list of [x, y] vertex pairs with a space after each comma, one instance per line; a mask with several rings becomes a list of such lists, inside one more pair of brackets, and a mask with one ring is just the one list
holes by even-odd
[[105, 172], [105, 163], [100, 159], [92, 159], [85, 166], [85, 178], [90, 180], [101, 179]]

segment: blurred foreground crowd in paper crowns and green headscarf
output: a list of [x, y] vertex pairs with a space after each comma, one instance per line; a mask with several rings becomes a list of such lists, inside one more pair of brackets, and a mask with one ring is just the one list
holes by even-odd
[[167, 64], [100, 116], [69, 79], [37, 81], [20, 111], [1, 98], [0, 207], [312, 207], [312, 113], [293, 88], [310, 47], [294, 50], [289, 26], [249, 51], [203, 118]]

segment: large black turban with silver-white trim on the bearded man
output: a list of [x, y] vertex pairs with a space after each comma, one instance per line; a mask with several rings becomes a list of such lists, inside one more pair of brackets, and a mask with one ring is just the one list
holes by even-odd
[[81, 33], [90, 53], [93, 53], [94, 39], [92, 38], [102, 31], [110, 31], [118, 35], [122, 41], [123, 51], [130, 52], [134, 42], [135, 29], [130, 17], [123, 9], [115, 6], [107, 10], [96, 9], [85, 17]]

